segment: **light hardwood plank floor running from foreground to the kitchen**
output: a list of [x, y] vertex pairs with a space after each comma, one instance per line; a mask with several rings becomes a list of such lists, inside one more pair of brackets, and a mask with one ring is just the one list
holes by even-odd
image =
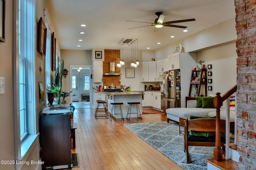
[[93, 109], [76, 109], [74, 122], [78, 168], [72, 170], [182, 170], [161, 152], [128, 130], [125, 123], [167, 121], [166, 114], [144, 114], [142, 120], [95, 119]]

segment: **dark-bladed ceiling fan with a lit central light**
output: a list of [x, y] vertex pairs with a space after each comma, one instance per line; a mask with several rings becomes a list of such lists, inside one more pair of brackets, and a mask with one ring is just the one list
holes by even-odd
[[[172, 23], [180, 23], [180, 22], [188, 22], [188, 21], [196, 21], [194, 18], [193, 19], [187, 19], [187, 20], [177, 20], [177, 21], [168, 21], [164, 22], [165, 15], [162, 14], [162, 12], [156, 12], [156, 15], [158, 18], [156, 18], [154, 23], [151, 22], [141, 22], [141, 23], [151, 23], [152, 25], [144, 25], [140, 27], [147, 27], [147, 26], [155, 26], [154, 32], [158, 31], [158, 28], [162, 27], [176, 27], [176, 28], [186, 28], [185, 26], [180, 26], [180, 25], [173, 25]], [[128, 22], [140, 22], [140, 21], [128, 21]], [[139, 28], [139, 27], [133, 27], [133, 28]], [[128, 28], [128, 29], [133, 29], [133, 28]]]

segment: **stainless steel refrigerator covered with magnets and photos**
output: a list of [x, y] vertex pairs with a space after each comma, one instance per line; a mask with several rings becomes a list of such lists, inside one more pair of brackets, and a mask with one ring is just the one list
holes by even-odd
[[163, 87], [161, 96], [161, 109], [166, 113], [166, 109], [180, 107], [180, 70], [170, 70], [164, 72]]

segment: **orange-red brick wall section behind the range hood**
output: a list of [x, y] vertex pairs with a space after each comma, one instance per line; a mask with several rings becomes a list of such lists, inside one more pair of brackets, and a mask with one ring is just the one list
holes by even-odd
[[[109, 63], [115, 62], [116, 72], [120, 72], [120, 68], [116, 66], [120, 61], [120, 50], [105, 50], [104, 51], [105, 60], [103, 61], [103, 74], [109, 72]], [[108, 86], [110, 84], [120, 85], [120, 75], [103, 75], [103, 86]]]

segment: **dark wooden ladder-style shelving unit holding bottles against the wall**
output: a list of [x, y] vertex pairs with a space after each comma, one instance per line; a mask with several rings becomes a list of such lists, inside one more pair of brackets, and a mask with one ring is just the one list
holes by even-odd
[[[203, 80], [204, 79], [204, 80]], [[197, 80], [197, 81], [196, 81]], [[191, 73], [190, 88], [188, 96], [191, 96], [192, 87], [196, 86], [197, 96], [201, 94], [201, 86], [204, 85], [204, 96], [207, 96], [207, 69], [193, 70]]]

